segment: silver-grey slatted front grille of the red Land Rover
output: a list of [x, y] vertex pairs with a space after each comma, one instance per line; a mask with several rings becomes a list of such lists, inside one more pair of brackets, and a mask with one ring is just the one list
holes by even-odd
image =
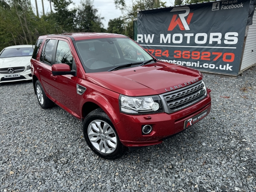
[[204, 81], [199, 81], [188, 87], [164, 93], [162, 96], [169, 112], [173, 113], [201, 101], [207, 96], [207, 91]]

